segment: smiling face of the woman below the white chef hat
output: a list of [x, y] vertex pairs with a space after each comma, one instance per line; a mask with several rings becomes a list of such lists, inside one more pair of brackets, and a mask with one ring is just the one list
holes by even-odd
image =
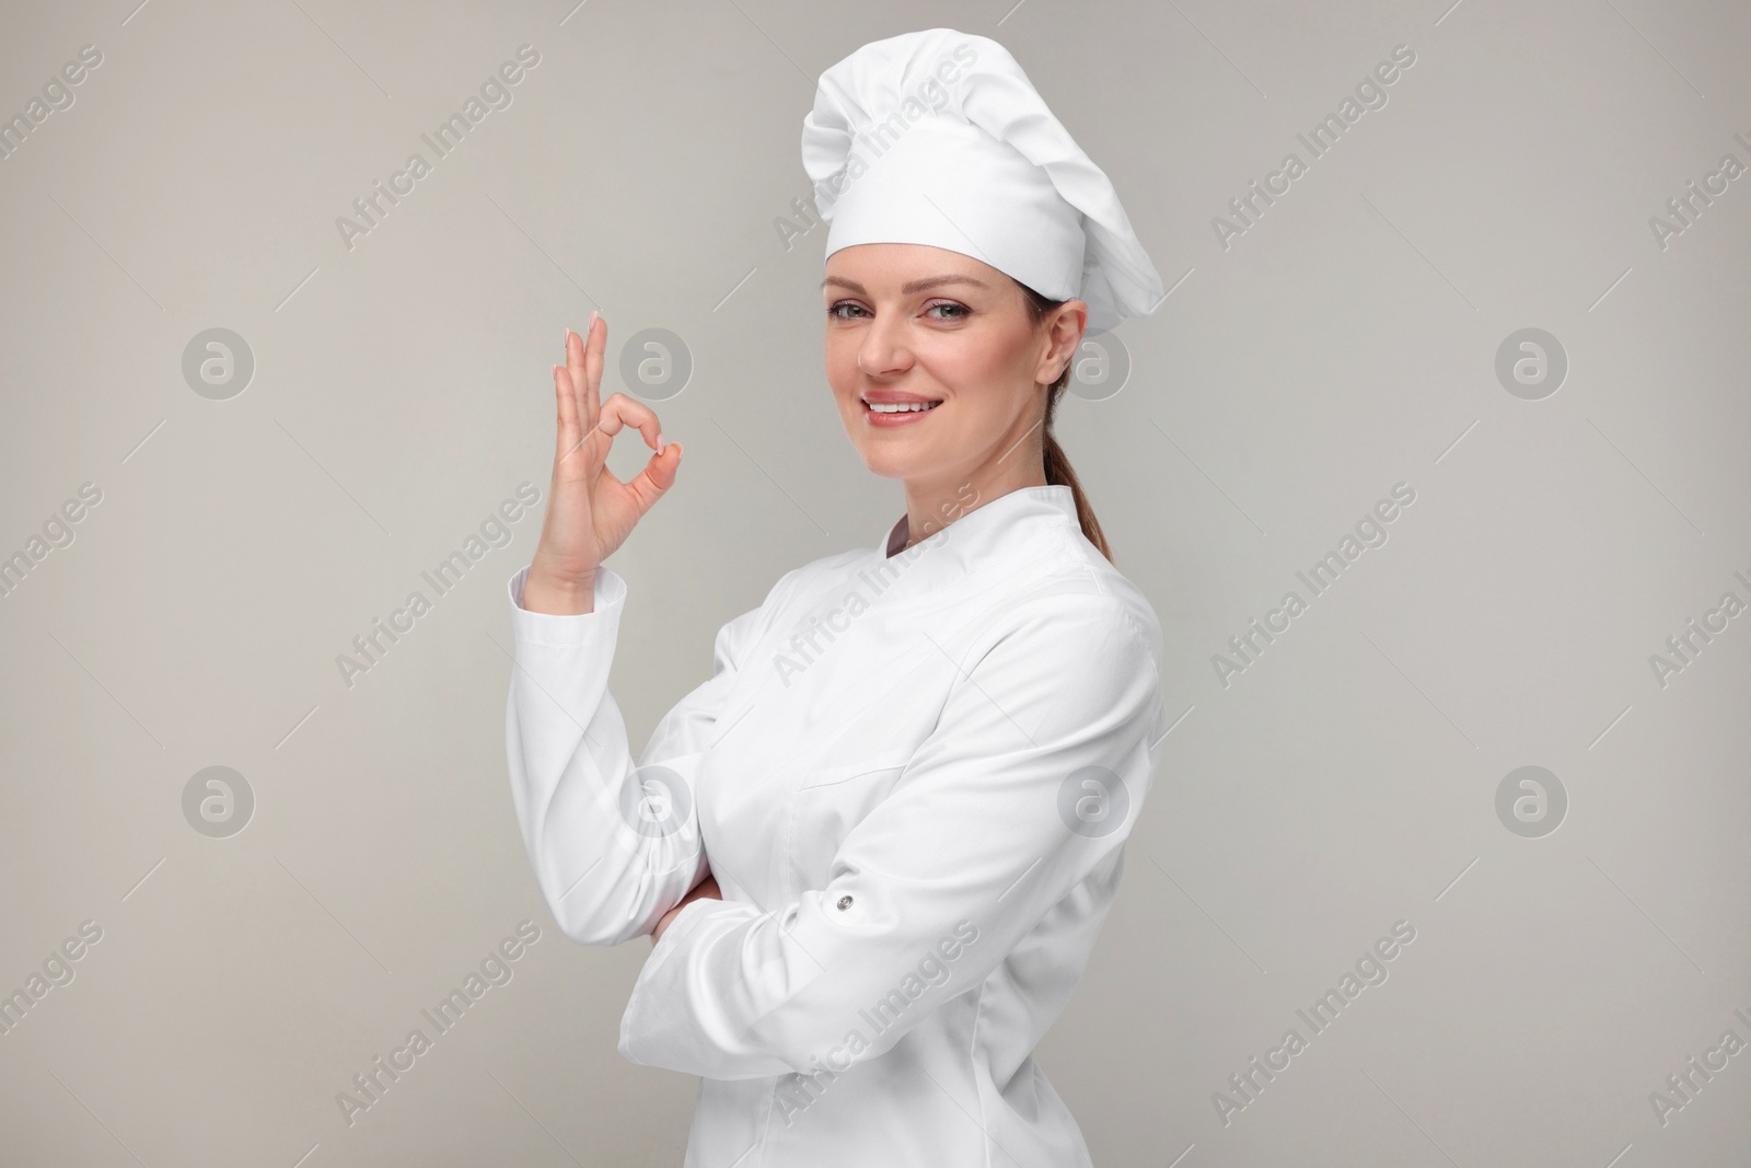
[[[870, 471], [953, 490], [1038, 469], [1044, 385], [1080, 341], [1082, 301], [1035, 326], [1009, 275], [923, 243], [833, 252], [821, 296], [826, 380]], [[935, 405], [890, 412], [909, 403]]]

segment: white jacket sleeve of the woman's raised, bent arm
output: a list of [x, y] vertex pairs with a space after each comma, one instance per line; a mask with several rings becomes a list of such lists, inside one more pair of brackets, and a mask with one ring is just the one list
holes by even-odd
[[608, 692], [625, 581], [597, 569], [595, 611], [557, 616], [522, 606], [527, 576], [522, 567], [508, 585], [511, 800], [560, 932], [613, 946], [650, 933], [706, 869], [693, 777], [760, 609], [718, 630], [711, 679], [664, 714], [634, 765]]

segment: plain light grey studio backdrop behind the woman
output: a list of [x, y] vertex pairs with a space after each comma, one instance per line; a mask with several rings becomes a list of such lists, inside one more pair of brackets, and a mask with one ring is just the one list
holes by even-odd
[[[550, 925], [504, 777], [504, 581], [539, 508], [348, 688], [334, 664], [531, 482], [564, 326], [667, 327], [679, 483], [613, 567], [637, 742], [790, 567], [900, 513], [821, 373], [814, 77], [1002, 40], [1175, 291], [1058, 433], [1150, 595], [1177, 723], [1082, 988], [1040, 1049], [1100, 1164], [1740, 1164], [1751, 1052], [1751, 14], [1436, 4], [7, 5], [0, 112], [103, 63], [0, 161], [0, 988], [103, 937], [0, 1037], [16, 1164], [674, 1164], [695, 1080], [625, 1065], [648, 942]], [[348, 250], [334, 219], [513, 56], [541, 61]], [[1397, 44], [1417, 63], [1222, 249], [1212, 217]], [[425, 151], [431, 154], [429, 151]], [[1304, 154], [1304, 151], [1301, 151]], [[254, 354], [226, 401], [182, 352]], [[1564, 385], [1495, 380], [1522, 327]], [[625, 441], [613, 466], [643, 462]], [[1394, 483], [1417, 501], [1229, 686], [1212, 655]], [[1304, 588], [1301, 588], [1304, 592]], [[429, 592], [429, 590], [427, 590]], [[254, 814], [182, 813], [226, 765]], [[1495, 790], [1541, 765], [1560, 828]], [[520, 919], [543, 937], [354, 1126], [350, 1077]], [[1212, 1093], [1410, 921], [1417, 940], [1222, 1124]], [[301, 1159], [303, 1157], [303, 1159]]]

